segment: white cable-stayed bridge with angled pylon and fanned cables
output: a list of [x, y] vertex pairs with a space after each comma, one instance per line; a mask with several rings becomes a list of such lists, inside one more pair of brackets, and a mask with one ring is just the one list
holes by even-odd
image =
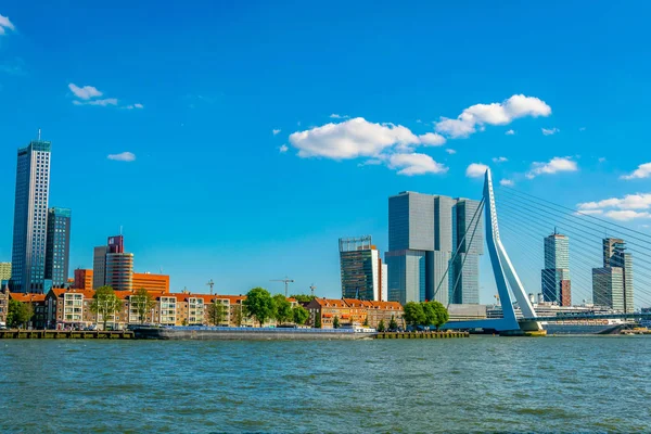
[[[651, 319], [651, 309], [641, 309], [641, 307], [651, 306], [651, 235], [625, 228], [620, 225], [609, 222], [607, 220], [577, 213], [551, 202], [536, 199], [526, 193], [518, 192], [514, 189], [502, 188], [503, 200], [496, 204], [495, 190], [490, 170], [486, 171], [484, 180], [484, 193], [480, 206], [473, 216], [474, 230], [470, 230], [463, 235], [470, 238], [469, 243], [472, 243], [475, 237], [476, 229], [481, 227], [478, 224], [482, 213], [485, 214], [485, 239], [486, 247], [490, 259], [490, 268], [495, 278], [499, 302], [501, 303], [502, 318], [477, 319], [450, 321], [444, 329], [486, 329], [497, 332], [535, 332], [542, 329], [541, 322], [563, 322], [567, 320], [599, 320], [599, 319]], [[509, 229], [508, 242], [502, 242], [500, 235], [500, 221], [498, 221], [497, 207], [506, 210], [505, 220]], [[503, 221], [502, 221], [503, 222]], [[472, 221], [470, 227], [472, 227]], [[511, 257], [507, 253], [506, 245], [510, 248], [516, 247], [512, 252], [516, 252], [514, 258], [522, 266], [521, 270], [528, 271], [534, 279], [537, 277], [536, 290], [529, 291], [539, 293], [540, 283], [545, 283], [546, 279], [556, 278], [541, 273], [542, 265], [542, 244], [541, 240], [548, 235], [550, 228], [560, 228], [563, 233], [570, 234], [575, 248], [571, 252], [571, 260], [573, 264], [574, 277], [572, 279], [572, 295], [576, 297], [585, 297], [591, 299], [592, 306], [609, 306], [612, 305], [613, 292], [615, 290], [624, 292], [623, 288], [614, 288], [616, 284], [610, 283], [610, 294], [607, 291], [592, 290], [592, 269], [598, 269], [605, 254], [604, 251], [597, 250], [603, 246], [603, 238], [613, 237], [614, 234], [626, 239], [626, 268], [628, 284], [630, 285], [629, 297], [633, 297], [633, 283], [635, 282], [635, 299], [636, 308], [633, 308], [633, 302], [626, 305], [627, 308], [622, 311], [610, 309], [609, 311], [590, 311], [574, 314], [558, 314], [556, 316], [538, 316], [532, 303], [531, 296], [527, 295], [523, 280], [519, 276]], [[556, 229], [554, 229], [556, 233]], [[613, 239], [622, 242], [620, 238]], [[462, 240], [463, 242], [463, 240]], [[623, 243], [622, 243], [623, 244]], [[603, 247], [605, 248], [605, 247]], [[622, 247], [623, 248], [623, 247]], [[457, 256], [455, 252], [452, 259]], [[538, 257], [539, 256], [539, 257]], [[633, 258], [635, 259], [635, 280], [633, 280]], [[579, 266], [582, 272], [576, 272]], [[463, 264], [462, 264], [463, 266]], [[622, 264], [624, 267], [624, 264]], [[622, 272], [624, 268], [620, 269]], [[569, 270], [567, 270], [569, 272]], [[444, 277], [445, 278], [445, 277]], [[532, 279], [533, 281], [533, 279]], [[554, 284], [554, 282], [549, 282]], [[558, 283], [557, 283], [558, 284]], [[534, 284], [531, 284], [534, 286]], [[456, 288], [454, 289], [456, 290]], [[452, 291], [454, 291], [452, 290]], [[626, 295], [624, 295], [626, 297]], [[514, 305], [520, 309], [521, 315], [516, 315]], [[603, 309], [602, 309], [603, 310]]]

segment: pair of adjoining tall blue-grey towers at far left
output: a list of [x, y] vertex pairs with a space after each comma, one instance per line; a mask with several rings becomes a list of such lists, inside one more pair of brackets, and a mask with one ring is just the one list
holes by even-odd
[[13, 292], [43, 293], [67, 282], [71, 210], [48, 208], [51, 149], [40, 132], [38, 140], [18, 149], [10, 280]]

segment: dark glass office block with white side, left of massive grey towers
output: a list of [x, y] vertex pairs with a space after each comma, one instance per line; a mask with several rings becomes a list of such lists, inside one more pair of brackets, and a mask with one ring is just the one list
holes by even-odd
[[341, 238], [340, 264], [342, 298], [380, 301], [382, 298], [382, 259], [370, 235]]

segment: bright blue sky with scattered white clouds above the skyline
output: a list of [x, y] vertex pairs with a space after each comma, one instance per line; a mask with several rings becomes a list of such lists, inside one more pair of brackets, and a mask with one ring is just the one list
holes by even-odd
[[386, 250], [387, 196], [472, 164], [648, 231], [648, 2], [137, 3], [2, 2], [0, 260], [38, 128], [71, 272], [122, 226], [174, 290], [339, 296], [337, 238]]

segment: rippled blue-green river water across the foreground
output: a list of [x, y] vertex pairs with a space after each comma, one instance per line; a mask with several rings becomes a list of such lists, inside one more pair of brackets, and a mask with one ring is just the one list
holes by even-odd
[[651, 432], [651, 339], [0, 341], [0, 432]]

